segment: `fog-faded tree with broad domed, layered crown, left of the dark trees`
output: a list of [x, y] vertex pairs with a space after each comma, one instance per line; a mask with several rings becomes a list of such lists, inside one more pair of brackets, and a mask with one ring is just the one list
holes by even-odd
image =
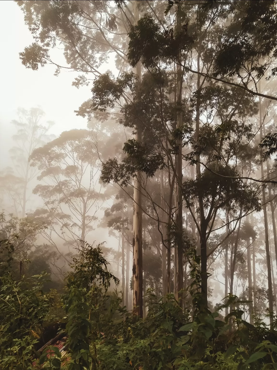
[[102, 145], [93, 134], [85, 129], [65, 131], [30, 157], [30, 165], [41, 172], [38, 180], [45, 182], [33, 190], [44, 201], [34, 216], [47, 222], [44, 235], [55, 246], [54, 235], [68, 246], [85, 240], [105, 201], [98, 182]]

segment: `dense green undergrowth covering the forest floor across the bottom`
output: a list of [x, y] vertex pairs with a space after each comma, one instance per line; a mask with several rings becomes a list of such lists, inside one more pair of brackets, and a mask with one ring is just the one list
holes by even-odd
[[[3, 243], [2, 243], [3, 244]], [[45, 320], [51, 319], [53, 302], [61, 307], [57, 292], [41, 292], [44, 276], [14, 280], [6, 269], [0, 279], [1, 369], [99, 369], [99, 370], [260, 370], [275, 369], [277, 337], [263, 323], [242, 320], [243, 311], [233, 309], [225, 320], [219, 311], [238, 307], [243, 301], [229, 295], [228, 302], [211, 312], [199, 293], [201, 273], [194, 246], [188, 246], [191, 285], [183, 293], [192, 296], [192, 307], [183, 309], [173, 295], [157, 298], [148, 292], [148, 314], [134, 317], [120, 307], [116, 294], [108, 294], [117, 278], [107, 270], [107, 261], [96, 248], [82, 243], [72, 263], [63, 296], [66, 311], [67, 351], [62, 358], [57, 347], [41, 354], [35, 350]], [[2, 248], [3, 248], [2, 246]], [[10, 251], [10, 252], [9, 252]], [[4, 262], [2, 262], [4, 263]], [[3, 265], [1, 265], [3, 266]], [[234, 317], [236, 329], [230, 330]], [[37, 359], [37, 360], [35, 360]]]

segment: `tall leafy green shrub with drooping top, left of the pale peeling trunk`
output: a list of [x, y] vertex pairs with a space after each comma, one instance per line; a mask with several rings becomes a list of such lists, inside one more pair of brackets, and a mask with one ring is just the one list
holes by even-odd
[[[71, 353], [71, 370], [91, 369], [96, 366], [95, 340], [108, 299], [110, 280], [118, 285], [119, 280], [107, 270], [107, 261], [96, 248], [82, 242], [78, 258], [73, 258], [73, 271], [68, 274], [64, 309], [68, 314], [66, 331]], [[90, 352], [94, 347], [95, 353]]]

